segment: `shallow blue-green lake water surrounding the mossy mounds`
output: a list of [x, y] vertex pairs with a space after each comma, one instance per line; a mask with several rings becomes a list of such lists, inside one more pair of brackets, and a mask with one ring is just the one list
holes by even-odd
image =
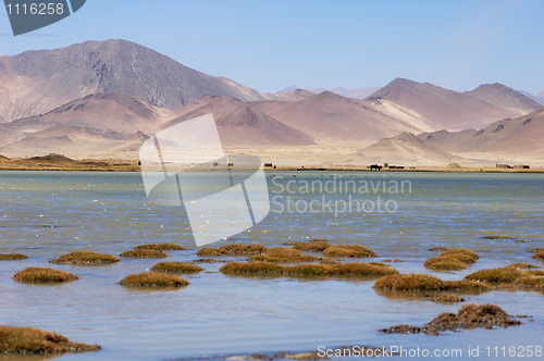
[[[392, 213], [277, 213], [279, 203], [286, 206], [280, 201], [250, 232], [213, 247], [234, 241], [274, 247], [327, 238], [334, 244], [360, 244], [380, 254], [366, 261], [400, 259], [404, 262], [391, 264], [401, 273], [433, 273], [445, 279], [515, 262], [542, 263], [532, 262], [530, 250], [544, 248], [543, 175], [268, 173], [273, 175], [269, 177], [272, 196], [307, 203], [319, 201], [323, 194], [305, 194], [304, 180], [409, 180], [411, 192], [325, 195], [327, 200], [380, 196], [397, 203]], [[287, 182], [295, 182], [290, 189], [299, 191], [280, 192]], [[432, 337], [380, 335], [378, 329], [400, 323], [422, 326], [441, 312], [456, 312], [459, 304], [436, 304], [421, 295], [378, 294], [373, 281], [200, 273], [185, 275], [190, 285], [180, 290], [127, 289], [119, 285], [124, 276], [145, 272], [158, 261], [123, 259], [107, 266], [48, 261], [74, 250], [119, 254], [136, 245], [162, 241], [191, 248], [169, 252], [168, 260], [194, 260], [196, 248], [183, 208], [149, 204], [137, 173], [1, 172], [0, 190], [0, 252], [29, 257], [0, 263], [0, 324], [54, 331], [103, 348], [98, 353], [62, 356], [62, 360], [163, 360], [310, 351], [321, 345], [460, 348], [463, 357], [457, 359], [465, 359], [469, 346], [480, 346], [482, 358], [487, 346], [544, 346], [544, 296], [539, 292], [468, 295], [470, 302], [492, 302], [510, 314], [532, 315], [532, 321], [522, 319], [523, 325], [507, 329]], [[483, 239], [485, 235], [515, 239]], [[482, 258], [466, 271], [431, 272], [422, 264], [437, 254], [426, 249], [437, 246], [470, 248]], [[201, 264], [208, 272], [221, 265]], [[27, 266], [52, 266], [77, 274], [79, 281], [60, 286], [13, 282], [13, 274]]]

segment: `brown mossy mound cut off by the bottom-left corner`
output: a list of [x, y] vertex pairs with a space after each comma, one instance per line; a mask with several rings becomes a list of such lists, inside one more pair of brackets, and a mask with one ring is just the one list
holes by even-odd
[[42, 329], [0, 326], [0, 354], [65, 353], [98, 350], [100, 350], [100, 346], [72, 343], [64, 336]]

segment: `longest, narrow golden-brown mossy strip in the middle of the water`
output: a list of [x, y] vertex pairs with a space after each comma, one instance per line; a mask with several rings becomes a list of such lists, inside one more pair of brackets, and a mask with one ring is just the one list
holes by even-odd
[[398, 273], [390, 266], [369, 263], [299, 264], [282, 266], [270, 262], [230, 262], [220, 270], [224, 274], [271, 274], [295, 276], [383, 276]]

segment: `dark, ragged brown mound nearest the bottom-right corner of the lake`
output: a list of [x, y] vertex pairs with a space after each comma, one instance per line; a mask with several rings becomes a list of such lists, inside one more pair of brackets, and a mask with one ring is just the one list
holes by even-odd
[[495, 304], [467, 304], [457, 314], [444, 312], [436, 319], [423, 326], [423, 331], [430, 335], [437, 335], [440, 332], [495, 328], [520, 325], [521, 322], [510, 320], [508, 314]]

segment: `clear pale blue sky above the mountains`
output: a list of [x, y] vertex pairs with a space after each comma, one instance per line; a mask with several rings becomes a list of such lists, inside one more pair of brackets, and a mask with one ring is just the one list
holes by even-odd
[[2, 55], [118, 38], [265, 92], [396, 77], [544, 91], [544, 0], [87, 0], [18, 37], [0, 10]]

